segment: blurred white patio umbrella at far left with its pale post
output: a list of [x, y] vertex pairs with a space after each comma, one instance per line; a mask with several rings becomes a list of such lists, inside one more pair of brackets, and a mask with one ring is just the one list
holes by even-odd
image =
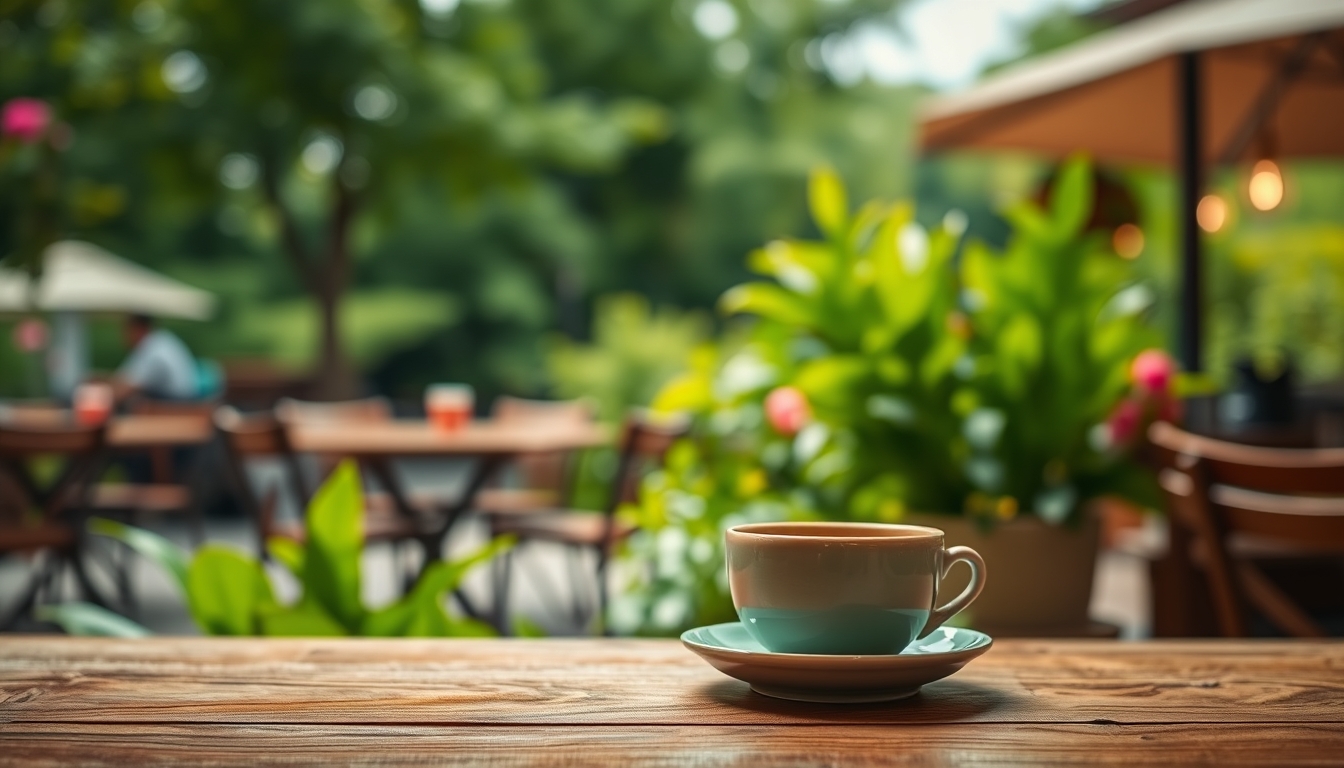
[[19, 270], [0, 269], [0, 313], [55, 313], [51, 389], [69, 397], [89, 370], [86, 313], [136, 313], [204, 320], [214, 295], [132, 264], [93, 243], [62, 241], [47, 247], [36, 286]]

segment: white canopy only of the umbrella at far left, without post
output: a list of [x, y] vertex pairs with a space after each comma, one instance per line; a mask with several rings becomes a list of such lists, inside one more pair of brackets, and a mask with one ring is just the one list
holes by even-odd
[[[93, 243], [52, 243], [47, 247], [44, 265], [36, 295], [36, 309], [40, 311], [126, 312], [204, 320], [215, 308], [211, 293], [132, 264]], [[31, 311], [30, 286], [26, 273], [0, 269], [0, 312]]]

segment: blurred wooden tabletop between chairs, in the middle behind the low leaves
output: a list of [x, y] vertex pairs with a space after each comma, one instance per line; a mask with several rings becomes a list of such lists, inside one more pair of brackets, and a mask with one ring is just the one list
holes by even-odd
[[300, 424], [289, 429], [294, 451], [333, 456], [488, 456], [578, 451], [610, 443], [598, 425], [538, 428], [474, 421], [458, 432], [422, 420], [364, 424]]

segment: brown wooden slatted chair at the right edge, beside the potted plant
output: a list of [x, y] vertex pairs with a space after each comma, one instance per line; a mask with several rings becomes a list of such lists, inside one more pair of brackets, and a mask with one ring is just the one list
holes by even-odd
[[1173, 516], [1195, 534], [1222, 633], [1246, 635], [1249, 604], [1289, 635], [1325, 636], [1247, 554], [1344, 554], [1344, 448], [1258, 448], [1165, 422], [1149, 440]]

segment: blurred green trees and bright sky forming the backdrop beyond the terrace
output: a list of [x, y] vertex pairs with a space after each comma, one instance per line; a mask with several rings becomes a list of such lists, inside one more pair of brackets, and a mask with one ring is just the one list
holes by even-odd
[[[813, 231], [814, 165], [1003, 245], [999, 211], [1050, 165], [919, 157], [917, 102], [1116, 24], [1107, 5], [7, 0], [0, 100], [43, 100], [69, 135], [48, 200], [0, 165], [0, 253], [40, 237], [19, 222], [42, 204], [62, 235], [208, 289], [208, 323], [169, 327], [239, 386], [648, 398], [719, 321], [745, 253]], [[1344, 169], [1285, 163], [1270, 213], [1247, 172], [1211, 179], [1227, 210], [1207, 241], [1207, 367], [1286, 351], [1301, 378], [1337, 377]], [[1172, 175], [1110, 174], [1171, 334]], [[7, 338], [17, 321], [0, 319]], [[602, 323], [659, 324], [657, 359], [614, 340], [605, 367], [573, 354]], [[90, 343], [95, 369], [125, 354], [110, 317]], [[0, 344], [0, 395], [46, 394], [39, 356]], [[622, 375], [644, 381], [593, 381]]]

